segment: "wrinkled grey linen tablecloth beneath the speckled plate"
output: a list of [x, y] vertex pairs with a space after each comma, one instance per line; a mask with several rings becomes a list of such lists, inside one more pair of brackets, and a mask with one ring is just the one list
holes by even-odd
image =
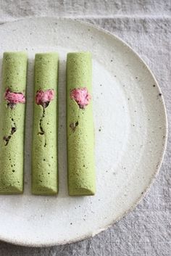
[[[164, 0], [6, 0], [0, 22], [25, 17], [73, 17], [120, 36], [146, 61], [162, 88], [171, 121], [171, 1]], [[170, 256], [171, 137], [162, 168], [151, 190], [125, 218], [101, 234], [75, 244], [47, 248], [0, 242], [1, 256]], [[1, 227], [0, 227], [1, 228]]]

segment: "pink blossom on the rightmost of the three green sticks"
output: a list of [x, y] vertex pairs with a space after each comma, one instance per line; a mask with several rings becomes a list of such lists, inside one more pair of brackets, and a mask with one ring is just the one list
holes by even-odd
[[74, 88], [70, 92], [71, 99], [74, 99], [75, 102], [79, 105], [80, 109], [84, 109], [91, 100], [91, 94], [88, 93], [86, 87], [83, 88]]

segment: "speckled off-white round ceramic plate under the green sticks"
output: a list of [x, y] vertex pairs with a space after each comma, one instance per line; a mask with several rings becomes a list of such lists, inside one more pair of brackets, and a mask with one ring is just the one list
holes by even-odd
[[[25, 192], [0, 196], [0, 239], [48, 246], [94, 236], [122, 218], [149, 188], [162, 163], [167, 117], [150, 70], [120, 38], [74, 20], [33, 18], [0, 27], [3, 51], [29, 55], [25, 141]], [[59, 195], [30, 193], [33, 57], [58, 51]], [[93, 54], [93, 114], [96, 133], [94, 197], [69, 197], [65, 133], [65, 65], [68, 51]]]

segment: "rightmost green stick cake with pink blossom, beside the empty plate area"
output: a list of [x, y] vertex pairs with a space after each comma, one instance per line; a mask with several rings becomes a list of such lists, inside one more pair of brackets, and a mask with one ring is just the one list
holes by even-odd
[[67, 163], [71, 196], [93, 195], [96, 190], [91, 80], [91, 54], [67, 54]]

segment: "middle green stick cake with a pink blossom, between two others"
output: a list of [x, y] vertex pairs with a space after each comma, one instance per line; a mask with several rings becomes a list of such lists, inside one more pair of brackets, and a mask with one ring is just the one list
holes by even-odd
[[[58, 54], [54, 52], [36, 54], [32, 151], [33, 194], [55, 195], [58, 191], [57, 79]], [[51, 91], [54, 93], [53, 99], [49, 99], [48, 102], [47, 98], [51, 96]]]

